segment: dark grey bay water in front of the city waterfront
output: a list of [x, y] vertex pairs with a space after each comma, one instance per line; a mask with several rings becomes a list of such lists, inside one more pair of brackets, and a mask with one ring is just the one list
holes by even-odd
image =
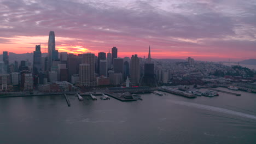
[[63, 96], [0, 98], [0, 143], [256, 143], [256, 94], [238, 93], [129, 103], [69, 96], [71, 107]]

